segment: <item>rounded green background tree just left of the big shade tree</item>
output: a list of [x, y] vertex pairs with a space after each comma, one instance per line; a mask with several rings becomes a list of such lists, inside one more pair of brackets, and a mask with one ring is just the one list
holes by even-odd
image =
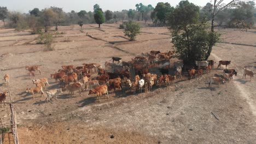
[[165, 25], [167, 16], [172, 13], [174, 10], [173, 7], [171, 7], [170, 3], [158, 3], [154, 9], [154, 13], [157, 17], [157, 19]]

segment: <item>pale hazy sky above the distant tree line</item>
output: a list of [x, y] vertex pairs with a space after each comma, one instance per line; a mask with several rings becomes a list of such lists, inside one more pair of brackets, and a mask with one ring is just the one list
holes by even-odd
[[[0, 0], [1, 7], [7, 7], [11, 11], [19, 11], [21, 13], [28, 13], [28, 10], [32, 10], [33, 8], [49, 8], [50, 6], [63, 8], [65, 12], [69, 12], [71, 10], [80, 11], [92, 11], [94, 4], [99, 4], [100, 7], [105, 10], [119, 11], [123, 9], [136, 9], [135, 5], [137, 3], [143, 3], [144, 5], [152, 4], [153, 7], [158, 2], [168, 2], [172, 6], [176, 6], [181, 0], [169, 0], [169, 1], [155, 1], [155, 0]], [[203, 6], [210, 0], [190, 0], [196, 5]]]

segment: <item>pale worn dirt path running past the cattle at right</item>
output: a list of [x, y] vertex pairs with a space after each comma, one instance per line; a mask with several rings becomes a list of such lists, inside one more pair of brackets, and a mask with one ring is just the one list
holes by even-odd
[[[222, 60], [222, 58], [216, 56], [214, 53], [211, 53], [211, 56], [213, 56], [216, 59], [216, 62]], [[233, 64], [234, 65], [234, 64]], [[222, 68], [225, 68], [222, 66]], [[237, 68], [237, 67], [236, 67]], [[245, 98], [248, 105], [251, 108], [251, 111], [253, 113], [253, 115], [256, 117], [256, 105], [253, 104], [253, 100], [249, 97], [249, 95], [251, 95], [251, 93], [249, 93], [248, 91], [246, 91], [246, 88], [243, 87], [240, 83], [238, 83], [237, 81], [235, 81], [237, 78], [234, 76], [234, 80], [232, 80], [231, 82], [234, 83], [234, 85], [236, 86], [236, 88], [240, 91], [241, 93], [241, 97]]]

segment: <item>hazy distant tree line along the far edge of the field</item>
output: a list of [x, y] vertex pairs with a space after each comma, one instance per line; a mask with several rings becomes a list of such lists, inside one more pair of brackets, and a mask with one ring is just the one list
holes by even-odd
[[[223, 0], [222, 0], [223, 1]], [[254, 1], [239, 1], [234, 0], [232, 7], [222, 7], [222, 1], [214, 0], [212, 3], [207, 3], [204, 7], [199, 7], [199, 18], [206, 21], [213, 20], [214, 25], [226, 27], [252, 27], [254, 25], [256, 9]], [[214, 9], [214, 2], [217, 2], [217, 7]], [[220, 3], [218, 3], [220, 2]], [[215, 5], [216, 6], [216, 5]], [[98, 23], [99, 27], [102, 23], [114, 23], [118, 20], [125, 21], [147, 21], [152, 20], [154, 26], [167, 26], [168, 16], [170, 16], [174, 7], [170, 3], [158, 3], [154, 8], [152, 5], [144, 5], [142, 3], [135, 5], [136, 9], [121, 10], [121, 11], [103, 11], [100, 5], [94, 5], [94, 11], [80, 10], [78, 12], [72, 10], [68, 13], [62, 8], [50, 7], [39, 10], [34, 8], [28, 13], [18, 13], [8, 11], [7, 7], [0, 7], [0, 20], [4, 22], [4, 26], [16, 28], [16, 30], [31, 28], [33, 33], [44, 28], [47, 32], [50, 26], [58, 29], [58, 26], [82, 23]], [[216, 13], [216, 11], [218, 13]], [[214, 13], [214, 16], [213, 16]]]

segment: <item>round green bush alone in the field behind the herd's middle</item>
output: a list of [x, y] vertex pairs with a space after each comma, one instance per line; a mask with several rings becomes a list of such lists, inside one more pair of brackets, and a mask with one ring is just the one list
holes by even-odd
[[140, 33], [141, 26], [138, 23], [129, 21], [126, 23], [124, 34], [130, 38], [130, 41], [135, 40], [136, 35]]

